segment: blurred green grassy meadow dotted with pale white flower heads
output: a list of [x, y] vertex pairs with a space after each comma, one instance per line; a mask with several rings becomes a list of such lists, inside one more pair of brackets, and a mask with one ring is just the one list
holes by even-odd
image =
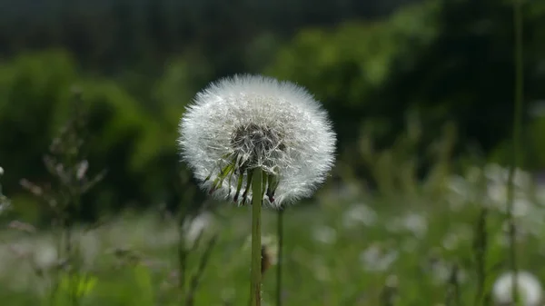
[[[421, 185], [388, 194], [346, 184], [324, 189], [315, 202], [289, 207], [282, 305], [485, 305], [493, 281], [510, 269], [506, 175], [489, 165], [435, 184], [441, 188]], [[540, 278], [545, 190], [532, 187], [526, 173], [515, 179], [517, 263]], [[193, 275], [199, 276], [194, 305], [247, 304], [250, 232], [250, 209], [230, 204], [189, 224], [184, 243], [200, 242], [187, 258], [186, 292]], [[263, 241], [272, 262], [275, 232], [276, 213], [267, 209]], [[76, 281], [58, 272], [64, 265], [56, 253], [57, 236], [16, 222], [1, 233], [1, 305], [184, 305], [180, 242], [168, 217], [125, 213], [95, 229], [74, 229], [81, 255]], [[264, 272], [263, 305], [275, 305], [275, 271], [272, 265]], [[81, 299], [67, 299], [70, 291]]]

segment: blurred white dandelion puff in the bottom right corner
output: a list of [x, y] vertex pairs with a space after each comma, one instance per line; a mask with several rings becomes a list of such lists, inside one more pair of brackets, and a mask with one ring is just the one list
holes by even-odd
[[[492, 288], [494, 301], [497, 305], [510, 305], [512, 301], [511, 288], [513, 284], [513, 273], [504, 273], [496, 280]], [[542, 289], [540, 281], [527, 271], [517, 273], [517, 283], [521, 305], [539, 306], [542, 300]]]

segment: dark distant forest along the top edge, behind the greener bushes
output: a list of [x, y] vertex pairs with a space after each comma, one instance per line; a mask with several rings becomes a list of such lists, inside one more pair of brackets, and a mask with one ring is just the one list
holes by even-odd
[[88, 69], [114, 74], [153, 70], [198, 45], [220, 75], [232, 74], [246, 43], [263, 32], [377, 17], [410, 1], [0, 0], [0, 54], [62, 46]]

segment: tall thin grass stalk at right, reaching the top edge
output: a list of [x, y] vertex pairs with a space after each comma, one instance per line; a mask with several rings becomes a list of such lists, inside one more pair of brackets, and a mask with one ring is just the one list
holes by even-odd
[[522, 10], [521, 1], [513, 1], [513, 21], [515, 32], [514, 63], [515, 63], [515, 96], [514, 96], [514, 118], [513, 118], [513, 145], [511, 155], [511, 165], [508, 177], [508, 204], [507, 218], [509, 223], [509, 262], [510, 270], [513, 273], [513, 283], [511, 286], [512, 299], [517, 304], [519, 302], [519, 286], [517, 285], [517, 251], [516, 251], [516, 226], [513, 216], [514, 205], [514, 175], [515, 170], [520, 166], [520, 136], [522, 130], [522, 104], [524, 100], [524, 72], [523, 72], [523, 47], [522, 47]]

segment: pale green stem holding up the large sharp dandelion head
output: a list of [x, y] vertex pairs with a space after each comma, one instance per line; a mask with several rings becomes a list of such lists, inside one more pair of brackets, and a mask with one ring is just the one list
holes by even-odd
[[[249, 177], [252, 177], [248, 175]], [[261, 305], [261, 208], [263, 198], [263, 170], [255, 168], [252, 177], [252, 282], [251, 282], [251, 306]]]

